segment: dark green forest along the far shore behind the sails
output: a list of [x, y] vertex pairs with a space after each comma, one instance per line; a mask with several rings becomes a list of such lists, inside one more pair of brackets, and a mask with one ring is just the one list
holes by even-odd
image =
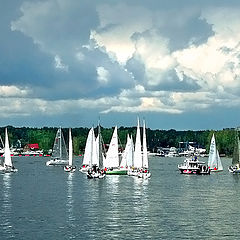
[[[10, 145], [13, 147], [24, 147], [26, 144], [38, 143], [39, 148], [47, 152], [53, 147], [54, 138], [57, 132], [56, 127], [30, 128], [30, 127], [13, 127], [8, 126], [8, 135]], [[112, 128], [101, 128], [101, 134], [105, 144], [109, 144], [113, 133]], [[0, 135], [4, 140], [5, 127], [0, 128]], [[65, 141], [68, 142], [68, 128], [62, 128]], [[97, 127], [94, 129], [97, 136]], [[74, 154], [84, 152], [89, 128], [72, 128]], [[142, 131], [142, 128], [141, 128]], [[201, 130], [201, 131], [177, 131], [170, 130], [151, 130], [146, 129], [147, 147], [151, 152], [156, 152], [160, 147], [179, 147], [179, 142], [196, 142], [199, 147], [209, 149], [212, 134], [215, 133], [217, 148], [220, 154], [231, 156], [233, 153], [235, 129], [227, 128], [223, 130]], [[127, 134], [133, 136], [135, 141], [136, 127], [118, 128], [118, 137], [120, 147], [124, 148]]]

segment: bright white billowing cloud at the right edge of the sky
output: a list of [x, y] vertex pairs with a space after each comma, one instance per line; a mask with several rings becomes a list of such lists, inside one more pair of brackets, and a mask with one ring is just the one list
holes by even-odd
[[[182, 74], [195, 79], [204, 91], [227, 91], [240, 89], [240, 10], [231, 8], [206, 10], [202, 18], [212, 25], [214, 35], [200, 46], [173, 53]], [[179, 75], [181, 73], [181, 75]]]

